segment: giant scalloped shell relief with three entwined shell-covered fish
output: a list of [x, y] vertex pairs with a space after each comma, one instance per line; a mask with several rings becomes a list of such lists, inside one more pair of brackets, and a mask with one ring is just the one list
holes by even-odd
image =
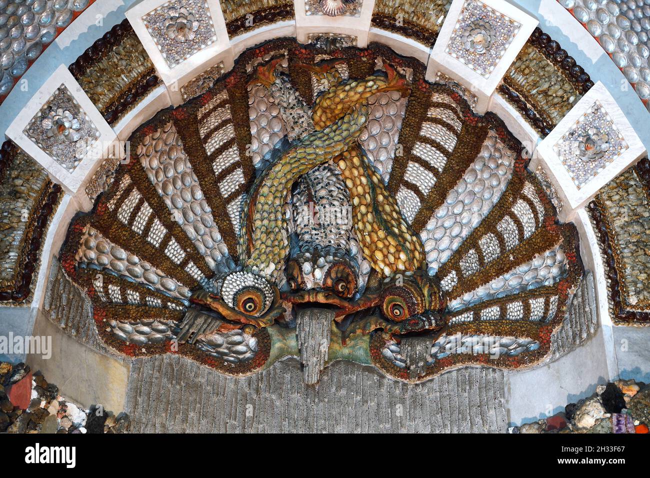
[[61, 251], [105, 343], [230, 375], [298, 356], [418, 381], [548, 354], [582, 275], [497, 116], [388, 47], [293, 39], [131, 136]]

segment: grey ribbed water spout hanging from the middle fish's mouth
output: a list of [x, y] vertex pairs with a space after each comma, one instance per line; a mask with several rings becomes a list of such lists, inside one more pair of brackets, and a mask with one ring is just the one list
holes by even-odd
[[320, 371], [325, 366], [330, 350], [331, 323], [334, 311], [309, 308], [298, 310], [296, 315], [296, 336], [300, 348], [305, 384], [318, 382]]

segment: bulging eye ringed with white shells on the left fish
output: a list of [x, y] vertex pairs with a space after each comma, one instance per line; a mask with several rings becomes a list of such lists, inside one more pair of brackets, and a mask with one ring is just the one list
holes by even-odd
[[237, 312], [259, 317], [270, 308], [275, 295], [265, 278], [240, 271], [224, 278], [221, 297]]

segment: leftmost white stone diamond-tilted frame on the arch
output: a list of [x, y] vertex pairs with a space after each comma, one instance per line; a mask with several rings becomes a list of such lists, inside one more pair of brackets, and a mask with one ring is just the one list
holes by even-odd
[[[23, 133], [32, 118], [61, 85], [68, 88], [72, 98], [77, 101], [81, 110], [88, 116], [99, 132], [98, 139], [72, 172], [57, 163], [55, 159]], [[66, 193], [77, 196], [85, 208], [90, 206], [90, 201], [84, 189], [94, 172], [103, 162], [103, 159], [108, 156], [112, 148], [116, 148], [116, 151], [123, 157], [123, 148], [117, 143], [118, 137], [115, 131], [101, 116], [101, 113], [90, 101], [86, 92], [79, 86], [72, 73], [68, 71], [68, 67], [63, 64], [52, 73], [43, 86], [34, 93], [27, 105], [16, 115], [16, 118], [6, 130], [6, 137], [15, 142], [34, 161], [43, 166], [53, 181], [60, 184]]]

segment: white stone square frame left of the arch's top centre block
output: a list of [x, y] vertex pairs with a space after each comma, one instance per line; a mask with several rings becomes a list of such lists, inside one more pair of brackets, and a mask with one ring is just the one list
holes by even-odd
[[167, 86], [172, 105], [179, 105], [183, 103], [183, 97], [180, 91], [181, 86], [220, 61], [224, 62], [224, 68], [227, 71], [234, 64], [234, 58], [226, 31], [226, 20], [224, 20], [220, 3], [218, 0], [202, 0], [207, 4], [214, 33], [216, 33], [216, 41], [181, 61], [173, 68], [170, 68], [164, 57], [162, 57], [162, 53], [155, 40], [149, 34], [146, 25], [144, 25], [144, 20], [142, 20], [146, 14], [169, 1], [140, 0], [140, 2], [132, 5], [125, 12], [125, 16], [129, 20], [129, 23], [131, 23], [133, 31], [135, 31], [135, 34], [140, 39], [142, 47], [144, 47], [149, 55], [149, 59], [151, 59], [159, 77], [161, 77], [162, 82]]

